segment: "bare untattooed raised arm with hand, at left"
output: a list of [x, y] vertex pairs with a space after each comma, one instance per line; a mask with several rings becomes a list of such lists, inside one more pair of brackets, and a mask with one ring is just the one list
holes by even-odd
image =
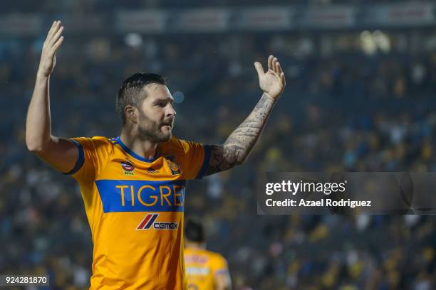
[[41, 61], [26, 118], [26, 146], [41, 159], [61, 172], [73, 169], [78, 159], [76, 145], [51, 135], [50, 75], [56, 64], [56, 50], [63, 42], [61, 21], [54, 21], [44, 41]]

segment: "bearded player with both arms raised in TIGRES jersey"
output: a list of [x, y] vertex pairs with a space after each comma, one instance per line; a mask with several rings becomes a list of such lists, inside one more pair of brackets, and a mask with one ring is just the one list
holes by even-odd
[[54, 21], [43, 43], [26, 145], [78, 181], [94, 245], [90, 289], [187, 289], [185, 182], [244, 162], [284, 90], [281, 66], [272, 55], [266, 73], [254, 63], [263, 94], [224, 144], [172, 136], [173, 98], [165, 79], [152, 73], [135, 73], [120, 87], [120, 136], [65, 139], [51, 133], [48, 93], [62, 33]]

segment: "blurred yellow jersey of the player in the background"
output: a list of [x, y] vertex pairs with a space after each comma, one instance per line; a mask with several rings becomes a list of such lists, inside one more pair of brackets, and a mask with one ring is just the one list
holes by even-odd
[[213, 290], [217, 275], [229, 276], [226, 259], [206, 249], [185, 248], [185, 267], [189, 290]]

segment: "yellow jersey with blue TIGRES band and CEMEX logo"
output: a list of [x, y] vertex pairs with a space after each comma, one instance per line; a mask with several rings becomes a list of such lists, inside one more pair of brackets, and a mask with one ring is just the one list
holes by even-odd
[[185, 183], [202, 177], [209, 146], [172, 137], [144, 159], [119, 137], [71, 140], [94, 246], [90, 289], [187, 289]]

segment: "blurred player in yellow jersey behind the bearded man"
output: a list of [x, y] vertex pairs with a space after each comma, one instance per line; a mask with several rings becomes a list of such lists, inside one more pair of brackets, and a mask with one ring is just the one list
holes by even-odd
[[199, 220], [188, 219], [185, 225], [185, 267], [188, 290], [232, 288], [226, 259], [206, 249], [204, 227]]

